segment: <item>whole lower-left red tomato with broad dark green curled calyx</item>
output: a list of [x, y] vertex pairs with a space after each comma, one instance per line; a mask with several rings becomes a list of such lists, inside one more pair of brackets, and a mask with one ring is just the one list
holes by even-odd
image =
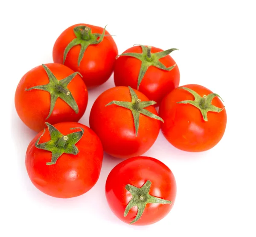
[[[99, 137], [76, 122], [47, 123], [26, 151], [32, 183], [53, 197], [76, 197], [89, 191], [99, 178], [103, 148]], [[50, 135], [51, 134], [51, 135]]]

